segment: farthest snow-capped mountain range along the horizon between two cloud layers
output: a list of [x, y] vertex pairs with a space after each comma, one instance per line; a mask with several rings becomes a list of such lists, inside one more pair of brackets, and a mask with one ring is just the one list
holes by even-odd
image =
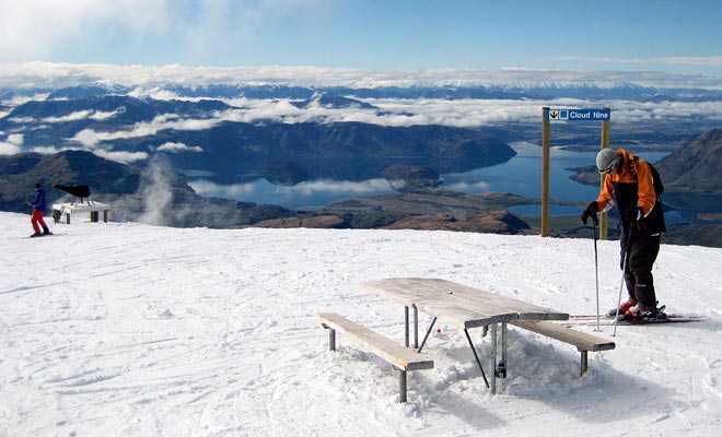
[[[77, 99], [100, 95], [125, 95], [137, 85], [88, 82], [61, 88], [0, 87], [0, 99], [18, 95], [46, 94], [50, 99]], [[637, 102], [719, 102], [722, 91], [717, 87], [642, 86], [629, 82], [534, 81], [503, 85], [411, 85], [411, 86], [302, 86], [289, 84], [249, 85], [242, 83], [182, 84], [154, 83], [156, 92], [168, 92], [189, 98], [292, 98], [311, 99], [314, 95], [326, 98], [358, 96], [360, 98], [503, 98], [503, 99], [625, 99]]]

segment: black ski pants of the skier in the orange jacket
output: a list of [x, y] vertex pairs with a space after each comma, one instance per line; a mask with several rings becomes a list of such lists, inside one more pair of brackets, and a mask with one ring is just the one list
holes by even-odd
[[[652, 265], [660, 253], [660, 236], [630, 237], [627, 233], [622, 233], [619, 241], [629, 297], [645, 307], [656, 308]], [[628, 257], [627, 261], [625, 261], [626, 257]]]

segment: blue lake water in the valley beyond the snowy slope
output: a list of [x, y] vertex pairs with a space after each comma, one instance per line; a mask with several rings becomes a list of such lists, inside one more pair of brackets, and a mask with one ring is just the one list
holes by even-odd
[[[471, 172], [441, 175], [441, 188], [477, 194], [484, 192], [511, 192], [531, 199], [542, 197], [542, 147], [526, 142], [511, 143], [516, 156], [492, 167]], [[645, 152], [642, 157], [655, 163], [666, 152]], [[549, 161], [549, 197], [552, 200], [591, 202], [599, 188], [575, 182], [569, 177], [570, 167], [594, 165], [596, 152], [573, 152], [551, 147]], [[194, 180], [191, 187], [202, 196], [217, 196], [244, 202], [273, 203], [293, 210], [321, 208], [328, 203], [360, 196], [396, 193], [385, 179], [363, 181], [314, 180], [295, 186], [277, 186], [266, 179], [248, 184], [219, 186], [206, 180]], [[539, 216], [538, 204], [511, 209], [525, 216]], [[579, 206], [551, 205], [549, 214], [575, 215]]]

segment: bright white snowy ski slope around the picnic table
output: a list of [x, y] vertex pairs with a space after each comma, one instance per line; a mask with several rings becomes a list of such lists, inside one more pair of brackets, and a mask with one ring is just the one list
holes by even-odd
[[[589, 239], [415, 231], [53, 226], [0, 213], [1, 436], [709, 436], [722, 429], [722, 251], [663, 246], [669, 312], [702, 323], [620, 327], [579, 354], [510, 329], [509, 378], [486, 389], [464, 335], [441, 324], [396, 375], [314, 315], [338, 311], [403, 341], [403, 307], [363, 281], [442, 277], [572, 314], [595, 311]], [[599, 241], [603, 308], [618, 243]], [[429, 318], [423, 316], [421, 324]], [[580, 328], [594, 332], [594, 327]], [[471, 331], [484, 363], [489, 339]], [[609, 335], [604, 328], [602, 335]]]

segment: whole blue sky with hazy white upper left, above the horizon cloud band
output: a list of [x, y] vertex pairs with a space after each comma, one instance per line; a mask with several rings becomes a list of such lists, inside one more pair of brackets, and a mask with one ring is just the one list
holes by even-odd
[[722, 75], [722, 1], [0, 0], [0, 63]]

